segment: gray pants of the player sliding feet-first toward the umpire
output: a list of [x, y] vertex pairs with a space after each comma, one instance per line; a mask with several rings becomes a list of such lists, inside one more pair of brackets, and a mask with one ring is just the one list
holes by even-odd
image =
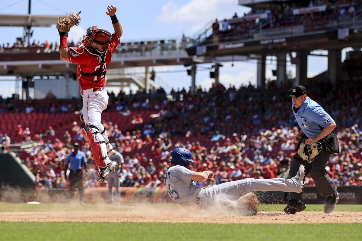
[[201, 206], [213, 205], [218, 198], [237, 200], [252, 191], [289, 191], [300, 193], [301, 185], [295, 178], [255, 179], [246, 178], [203, 188], [197, 195]]

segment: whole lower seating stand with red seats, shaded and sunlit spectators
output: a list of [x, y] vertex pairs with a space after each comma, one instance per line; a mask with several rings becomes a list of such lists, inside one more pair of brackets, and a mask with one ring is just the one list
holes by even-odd
[[[313, 86], [313, 87], [312, 87]], [[211, 186], [241, 178], [287, 177], [295, 154], [293, 136], [298, 132], [287, 97], [290, 86], [266, 90], [253, 86], [172, 91], [173, 100], [159, 94], [117, 96], [110, 93], [104, 126], [110, 141], [125, 158], [122, 186], [163, 186], [169, 152], [186, 147], [197, 162], [193, 170], [211, 169]], [[306, 86], [308, 96], [331, 113], [337, 123], [341, 153], [331, 156], [329, 175], [338, 185], [362, 184], [362, 81], [328, 81]], [[79, 100], [0, 100], [2, 151], [13, 142], [35, 143], [19, 157], [37, 177], [37, 189], [67, 188], [64, 178], [71, 143], [81, 143], [88, 165], [85, 186], [95, 186], [96, 170], [89, 144], [81, 135]], [[294, 126], [294, 127], [292, 127]], [[102, 184], [105, 185], [105, 184]], [[305, 185], [313, 186], [307, 177]]]

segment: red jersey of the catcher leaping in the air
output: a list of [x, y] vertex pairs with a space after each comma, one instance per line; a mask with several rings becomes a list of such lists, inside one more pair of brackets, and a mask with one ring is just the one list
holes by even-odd
[[120, 43], [119, 36], [116, 33], [112, 34], [112, 40], [108, 49], [103, 52], [99, 52], [95, 48], [88, 47], [70, 47], [69, 48], [69, 61], [77, 65], [77, 79], [79, 80], [81, 90], [87, 90], [95, 87], [104, 87], [106, 85], [105, 75], [102, 76], [85, 76], [84, 73], [94, 73], [99, 70], [102, 61], [102, 55], [104, 56], [104, 65], [102, 72], [105, 72], [107, 66], [111, 62], [112, 53]]

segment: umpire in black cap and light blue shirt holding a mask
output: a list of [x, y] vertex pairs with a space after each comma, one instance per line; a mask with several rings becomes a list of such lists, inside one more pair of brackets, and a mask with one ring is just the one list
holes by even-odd
[[[334, 130], [336, 122], [318, 103], [307, 96], [304, 86], [293, 86], [289, 97], [292, 98], [292, 111], [300, 127], [300, 132], [294, 137], [299, 143], [289, 176], [295, 176], [299, 166], [303, 164], [306, 167], [306, 176], [310, 172], [319, 193], [327, 197], [324, 212], [329, 214], [334, 211], [339, 198], [336, 184], [324, 169], [329, 155], [339, 153]], [[302, 202], [302, 193], [289, 193], [289, 202], [284, 211], [295, 214], [306, 207]]]

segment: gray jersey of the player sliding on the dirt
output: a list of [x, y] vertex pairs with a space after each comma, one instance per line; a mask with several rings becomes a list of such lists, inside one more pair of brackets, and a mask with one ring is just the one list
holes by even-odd
[[193, 171], [180, 165], [168, 168], [165, 176], [165, 189], [168, 195], [178, 204], [195, 202], [202, 188], [191, 180]]

